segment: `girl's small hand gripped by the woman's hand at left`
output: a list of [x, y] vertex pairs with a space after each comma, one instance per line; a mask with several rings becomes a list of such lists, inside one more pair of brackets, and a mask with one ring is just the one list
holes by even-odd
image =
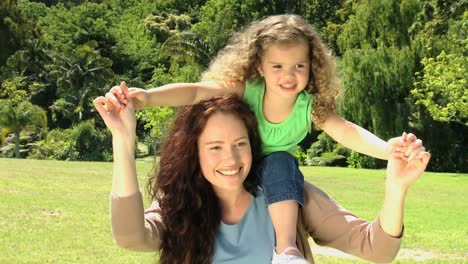
[[118, 108], [124, 108], [128, 103], [132, 103], [134, 109], [141, 110], [148, 102], [148, 93], [145, 89], [128, 88], [124, 81], [120, 83], [120, 86], [112, 87], [109, 93], [109, 99]]

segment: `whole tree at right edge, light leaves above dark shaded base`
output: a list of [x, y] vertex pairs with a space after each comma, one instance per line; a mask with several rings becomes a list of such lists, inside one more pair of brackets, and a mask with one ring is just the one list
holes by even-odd
[[468, 1], [428, 0], [421, 6], [409, 29], [417, 62], [410, 122], [433, 156], [429, 170], [466, 172]]

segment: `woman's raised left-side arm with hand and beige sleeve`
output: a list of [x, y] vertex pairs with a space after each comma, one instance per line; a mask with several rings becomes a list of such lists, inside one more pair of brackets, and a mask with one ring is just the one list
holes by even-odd
[[108, 93], [94, 106], [112, 133], [111, 225], [116, 243], [127, 249], [154, 251], [160, 245], [161, 220], [154, 204], [146, 212], [135, 168], [135, 111], [131, 104], [118, 107]]

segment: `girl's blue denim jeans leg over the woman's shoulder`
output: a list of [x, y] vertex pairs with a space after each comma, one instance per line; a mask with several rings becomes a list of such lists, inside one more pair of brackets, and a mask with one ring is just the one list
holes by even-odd
[[295, 200], [304, 206], [304, 175], [296, 158], [289, 152], [274, 152], [260, 166], [266, 205]]

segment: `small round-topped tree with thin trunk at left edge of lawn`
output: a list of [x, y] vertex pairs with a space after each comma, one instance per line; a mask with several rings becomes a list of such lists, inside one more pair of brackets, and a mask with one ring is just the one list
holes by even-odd
[[0, 100], [0, 127], [15, 135], [15, 156], [20, 157], [20, 134], [24, 130], [41, 129], [47, 126], [44, 109], [28, 101], [14, 105], [8, 100]]

